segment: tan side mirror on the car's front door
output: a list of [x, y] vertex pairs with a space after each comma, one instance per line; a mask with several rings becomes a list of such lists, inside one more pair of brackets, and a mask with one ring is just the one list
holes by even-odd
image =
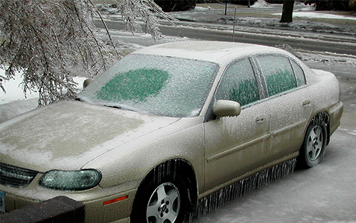
[[238, 102], [219, 100], [216, 102], [213, 112], [218, 117], [239, 116], [241, 106]]

